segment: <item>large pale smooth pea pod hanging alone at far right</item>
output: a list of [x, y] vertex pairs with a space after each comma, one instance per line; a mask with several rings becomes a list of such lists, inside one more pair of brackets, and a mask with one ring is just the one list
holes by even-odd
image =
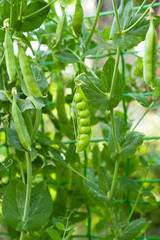
[[148, 86], [155, 85], [157, 72], [157, 32], [154, 27], [153, 17], [150, 19], [150, 26], [145, 38], [143, 75]]

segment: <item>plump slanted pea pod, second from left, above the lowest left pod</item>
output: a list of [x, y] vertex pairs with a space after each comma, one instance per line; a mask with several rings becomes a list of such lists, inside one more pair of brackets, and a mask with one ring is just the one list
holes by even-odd
[[24, 77], [25, 84], [34, 97], [43, 97], [39, 86], [33, 76], [31, 66], [25, 54], [23, 47], [18, 44], [19, 63]]

